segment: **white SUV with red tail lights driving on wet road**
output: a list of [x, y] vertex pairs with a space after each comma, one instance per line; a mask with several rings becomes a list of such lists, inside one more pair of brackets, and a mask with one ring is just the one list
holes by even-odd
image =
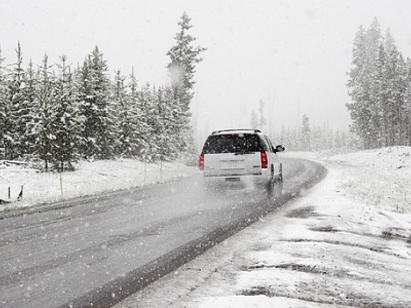
[[258, 129], [216, 130], [207, 138], [199, 158], [199, 168], [206, 178], [240, 181], [252, 178], [271, 187], [283, 181], [282, 164], [270, 139]]

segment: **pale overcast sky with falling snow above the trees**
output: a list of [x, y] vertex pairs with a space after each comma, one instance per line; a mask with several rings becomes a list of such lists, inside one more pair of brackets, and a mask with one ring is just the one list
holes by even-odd
[[[328, 121], [346, 130], [346, 73], [354, 35], [376, 16], [411, 56], [411, 1], [44, 1], [0, 0], [0, 44], [6, 63], [20, 41], [25, 64], [66, 54], [82, 63], [98, 45], [109, 72], [135, 68], [140, 84], [168, 83], [165, 53], [183, 11], [208, 50], [197, 66], [193, 111], [201, 130], [248, 127], [259, 100], [272, 106], [272, 130]], [[298, 107], [299, 106], [299, 107]], [[268, 127], [266, 127], [266, 130]]]

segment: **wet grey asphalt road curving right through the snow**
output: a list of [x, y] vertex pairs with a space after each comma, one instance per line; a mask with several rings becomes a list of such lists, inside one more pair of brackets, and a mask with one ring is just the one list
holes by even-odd
[[283, 196], [252, 185], [173, 182], [0, 216], [0, 307], [110, 306], [324, 176], [283, 160]]

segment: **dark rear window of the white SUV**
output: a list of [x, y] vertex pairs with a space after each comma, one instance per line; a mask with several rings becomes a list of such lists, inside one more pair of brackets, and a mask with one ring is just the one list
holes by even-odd
[[231, 133], [211, 135], [202, 149], [204, 154], [259, 152], [261, 141], [257, 134]]

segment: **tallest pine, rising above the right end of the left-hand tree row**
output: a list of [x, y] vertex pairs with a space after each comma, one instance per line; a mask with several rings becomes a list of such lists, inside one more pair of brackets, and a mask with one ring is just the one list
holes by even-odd
[[194, 140], [190, 128], [190, 102], [194, 95], [194, 73], [196, 64], [203, 60], [199, 56], [200, 53], [207, 50], [200, 46], [193, 46], [196, 38], [188, 33], [192, 28], [190, 22], [191, 18], [183, 12], [178, 22], [180, 31], [174, 37], [176, 44], [166, 54], [170, 57], [170, 63], [166, 67], [169, 69], [174, 90], [174, 108], [178, 109], [175, 114], [179, 117], [177, 119], [179, 124], [175, 128], [179, 130], [174, 133], [181, 136], [180, 151], [193, 147], [190, 144]]

